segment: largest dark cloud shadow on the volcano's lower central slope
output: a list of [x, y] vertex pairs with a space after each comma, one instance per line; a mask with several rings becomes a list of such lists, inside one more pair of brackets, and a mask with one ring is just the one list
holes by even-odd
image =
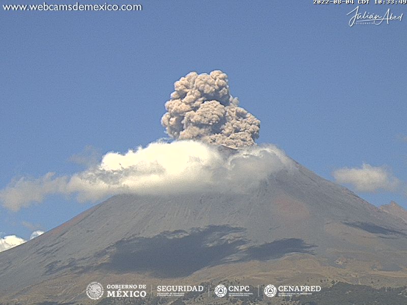
[[110, 262], [102, 266], [117, 272], [152, 272], [157, 277], [188, 276], [237, 253], [246, 241], [229, 234], [243, 230], [210, 226], [190, 233], [180, 230], [163, 232], [152, 238], [121, 240], [113, 246]]

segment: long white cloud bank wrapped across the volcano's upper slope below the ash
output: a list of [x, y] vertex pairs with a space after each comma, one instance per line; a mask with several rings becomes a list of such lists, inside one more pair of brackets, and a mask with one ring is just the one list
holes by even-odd
[[99, 165], [70, 177], [48, 173], [13, 181], [0, 191], [0, 201], [18, 210], [51, 194], [76, 194], [79, 201], [97, 201], [124, 193], [165, 195], [204, 189], [244, 192], [269, 175], [293, 166], [292, 160], [273, 145], [250, 146], [226, 154], [218, 147], [186, 140], [154, 142], [126, 154], [111, 152]]

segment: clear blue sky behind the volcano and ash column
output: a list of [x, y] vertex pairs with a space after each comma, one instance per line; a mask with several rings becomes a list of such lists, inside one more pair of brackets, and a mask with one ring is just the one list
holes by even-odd
[[[165, 137], [173, 82], [220, 69], [261, 120], [259, 143], [330, 180], [338, 168], [385, 168], [400, 187], [349, 187], [375, 205], [407, 207], [406, 20], [350, 27], [356, 5], [312, 1], [139, 3], [141, 12], [0, 8], [0, 189], [83, 170], [72, 156], [87, 146], [101, 156]], [[389, 7], [407, 12], [361, 10]], [[90, 206], [53, 195], [17, 212], [0, 207], [0, 232], [27, 239]]]

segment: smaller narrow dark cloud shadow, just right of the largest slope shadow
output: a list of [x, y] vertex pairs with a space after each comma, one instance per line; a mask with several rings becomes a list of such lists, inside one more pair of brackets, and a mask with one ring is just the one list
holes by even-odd
[[308, 245], [304, 240], [299, 238], [285, 238], [246, 249], [245, 260], [276, 259], [288, 253], [313, 254], [311, 249], [315, 247], [315, 245]]

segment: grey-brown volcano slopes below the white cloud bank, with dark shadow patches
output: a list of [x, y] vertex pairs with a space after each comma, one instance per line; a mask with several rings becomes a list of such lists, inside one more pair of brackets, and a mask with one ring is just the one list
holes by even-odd
[[294, 164], [250, 192], [113, 196], [0, 253], [0, 302], [95, 304], [93, 281], [404, 285], [405, 211]]

